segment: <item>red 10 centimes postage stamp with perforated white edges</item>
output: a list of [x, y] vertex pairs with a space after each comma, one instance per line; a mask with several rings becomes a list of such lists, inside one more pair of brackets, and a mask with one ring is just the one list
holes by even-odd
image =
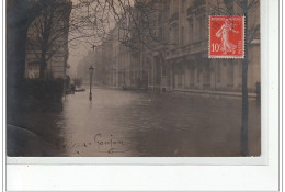
[[244, 57], [244, 16], [209, 16], [208, 57]]

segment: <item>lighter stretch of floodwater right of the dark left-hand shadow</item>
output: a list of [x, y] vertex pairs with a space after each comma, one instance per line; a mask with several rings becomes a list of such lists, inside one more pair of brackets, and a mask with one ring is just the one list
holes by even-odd
[[[89, 102], [87, 93], [71, 95], [65, 103], [65, 116], [72, 116], [65, 136], [67, 156], [240, 155], [240, 100], [102, 89], [93, 92], [92, 109], [83, 110]], [[260, 108], [254, 102], [250, 102], [249, 127], [250, 154], [259, 155]], [[98, 145], [96, 134], [104, 140], [111, 140], [112, 135], [125, 145]], [[112, 148], [117, 153], [110, 153]]]

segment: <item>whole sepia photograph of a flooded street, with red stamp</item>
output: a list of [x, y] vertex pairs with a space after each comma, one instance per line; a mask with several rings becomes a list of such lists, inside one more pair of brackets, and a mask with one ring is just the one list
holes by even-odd
[[5, 0], [8, 157], [260, 157], [260, 0]]

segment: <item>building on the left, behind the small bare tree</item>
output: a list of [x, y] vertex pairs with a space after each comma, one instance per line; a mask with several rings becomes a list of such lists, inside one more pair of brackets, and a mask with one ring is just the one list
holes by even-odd
[[[39, 78], [41, 68], [41, 54], [46, 50], [47, 66], [45, 69], [45, 78], [65, 78], [67, 59], [68, 59], [68, 25], [69, 15], [71, 12], [71, 0], [55, 0], [56, 11], [53, 12], [53, 20], [48, 31], [50, 33], [47, 48], [43, 47], [42, 43], [44, 30], [39, 29], [44, 20], [48, 18], [44, 13], [36, 19], [27, 31], [27, 48], [26, 48], [26, 61], [25, 61], [25, 77], [26, 78]], [[65, 10], [62, 13], [61, 10]]]

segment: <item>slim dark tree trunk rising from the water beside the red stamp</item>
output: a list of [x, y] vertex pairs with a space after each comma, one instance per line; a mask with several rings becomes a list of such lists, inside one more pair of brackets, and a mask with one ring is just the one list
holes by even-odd
[[242, 114], [241, 114], [241, 155], [249, 155], [248, 146], [248, 118], [249, 118], [249, 105], [248, 105], [248, 1], [243, 1], [244, 13], [244, 58], [242, 60]]

